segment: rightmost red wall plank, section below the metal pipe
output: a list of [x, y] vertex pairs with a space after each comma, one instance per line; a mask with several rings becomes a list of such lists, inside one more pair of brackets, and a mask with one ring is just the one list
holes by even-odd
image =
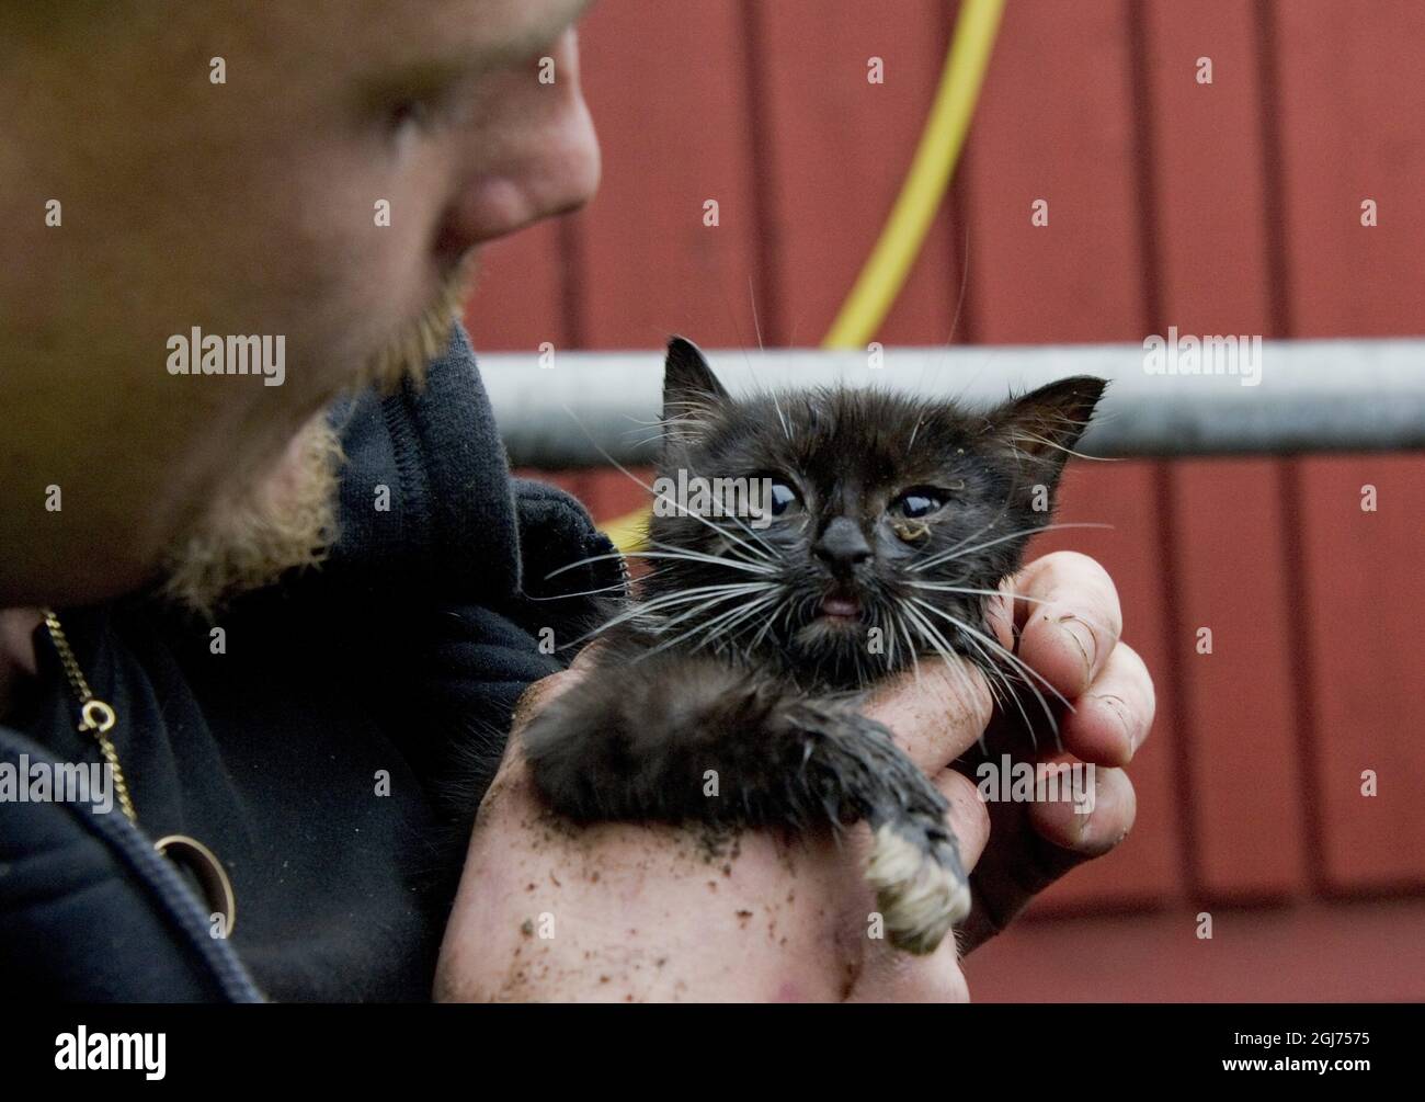
[[[1301, 517], [1322, 887], [1425, 885], [1425, 459], [1304, 459]], [[1374, 486], [1377, 512], [1364, 512]], [[1362, 794], [1362, 773], [1378, 795]]]

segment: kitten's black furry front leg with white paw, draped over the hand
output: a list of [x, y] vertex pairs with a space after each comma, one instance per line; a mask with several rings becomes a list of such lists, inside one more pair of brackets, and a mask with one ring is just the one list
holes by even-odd
[[[536, 787], [581, 821], [865, 820], [893, 945], [933, 951], [970, 905], [948, 804], [879, 723], [705, 657], [601, 666], [524, 733]], [[708, 778], [715, 783], [708, 784]]]

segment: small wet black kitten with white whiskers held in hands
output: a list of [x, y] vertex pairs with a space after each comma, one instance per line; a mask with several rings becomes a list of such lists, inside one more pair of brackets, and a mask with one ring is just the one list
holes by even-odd
[[1047, 525], [1103, 388], [986, 413], [849, 388], [732, 399], [674, 338], [656, 569], [526, 731], [546, 800], [580, 821], [864, 818], [892, 944], [935, 949], [970, 904], [946, 801], [856, 690], [952, 652], [1026, 686], [985, 604]]

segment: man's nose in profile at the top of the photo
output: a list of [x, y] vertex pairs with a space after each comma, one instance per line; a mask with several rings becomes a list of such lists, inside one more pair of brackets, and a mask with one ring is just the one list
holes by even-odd
[[598, 137], [579, 87], [573, 30], [549, 57], [549, 83], [534, 66], [512, 76], [492, 114], [469, 134], [459, 192], [442, 227], [452, 252], [577, 210], [598, 188]]

